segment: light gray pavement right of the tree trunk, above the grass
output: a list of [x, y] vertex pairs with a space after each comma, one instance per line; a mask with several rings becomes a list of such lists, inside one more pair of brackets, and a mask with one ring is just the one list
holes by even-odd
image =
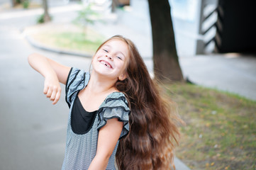
[[180, 57], [191, 81], [256, 101], [256, 55], [198, 55]]

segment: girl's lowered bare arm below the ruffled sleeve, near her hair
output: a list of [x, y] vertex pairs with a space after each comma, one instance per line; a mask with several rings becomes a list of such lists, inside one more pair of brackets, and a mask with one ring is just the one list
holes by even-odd
[[99, 138], [96, 156], [92, 160], [89, 170], [105, 170], [108, 165], [108, 159], [116, 147], [116, 143], [121, 135], [123, 123], [113, 118], [107, 121], [101, 130], [99, 130]]

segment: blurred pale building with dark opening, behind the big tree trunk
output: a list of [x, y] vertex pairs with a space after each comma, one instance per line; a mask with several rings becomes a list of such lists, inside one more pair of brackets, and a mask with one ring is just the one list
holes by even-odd
[[[129, 15], [133, 22], [126, 18], [126, 24], [136, 23], [136, 29], [148, 33], [148, 1], [128, 4], [135, 14]], [[256, 52], [255, 0], [169, 0], [169, 4], [180, 55]]]

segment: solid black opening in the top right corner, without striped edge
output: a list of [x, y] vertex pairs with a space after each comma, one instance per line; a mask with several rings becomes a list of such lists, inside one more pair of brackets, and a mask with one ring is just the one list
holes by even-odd
[[256, 53], [256, 1], [219, 0], [216, 52]]

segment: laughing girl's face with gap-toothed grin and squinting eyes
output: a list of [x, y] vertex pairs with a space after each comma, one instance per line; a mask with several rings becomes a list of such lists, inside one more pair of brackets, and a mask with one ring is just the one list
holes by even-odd
[[94, 72], [116, 81], [126, 79], [128, 57], [126, 42], [118, 39], [109, 40], [94, 55], [92, 60]]

